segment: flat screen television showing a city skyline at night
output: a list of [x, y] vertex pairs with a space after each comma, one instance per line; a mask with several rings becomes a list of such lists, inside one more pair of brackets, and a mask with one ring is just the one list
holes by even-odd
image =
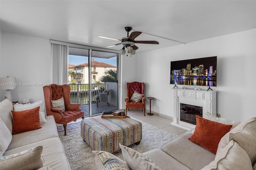
[[217, 86], [217, 56], [171, 61], [170, 84]]

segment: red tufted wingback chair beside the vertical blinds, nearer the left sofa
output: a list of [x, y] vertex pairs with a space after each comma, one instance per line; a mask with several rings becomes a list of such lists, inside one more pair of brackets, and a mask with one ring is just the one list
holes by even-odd
[[[53, 115], [55, 122], [62, 124], [66, 136], [67, 124], [76, 121], [82, 117], [84, 119], [84, 112], [80, 109], [80, 104], [70, 103], [70, 87], [69, 85], [56, 85], [52, 84], [44, 86], [44, 101], [46, 106], [46, 114]], [[62, 109], [52, 107], [52, 100], [64, 98], [65, 111], [62, 113]]]

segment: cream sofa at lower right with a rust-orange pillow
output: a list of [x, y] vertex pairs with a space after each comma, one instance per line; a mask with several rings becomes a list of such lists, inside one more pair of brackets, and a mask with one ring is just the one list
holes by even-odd
[[256, 117], [233, 125], [220, 139], [216, 155], [188, 140], [192, 134], [193, 130], [188, 131], [144, 155], [161, 170], [256, 170]]

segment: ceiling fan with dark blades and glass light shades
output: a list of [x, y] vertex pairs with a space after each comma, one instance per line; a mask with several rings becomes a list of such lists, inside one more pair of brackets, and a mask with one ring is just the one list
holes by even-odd
[[115, 39], [115, 38], [104, 37], [104, 36], [99, 36], [99, 37], [100, 38], [107, 38], [107, 39], [110, 39], [110, 40], [121, 41], [121, 43], [117, 43], [117, 44], [114, 44], [114, 45], [109, 45], [107, 47], [114, 47], [116, 45], [122, 44], [123, 47], [122, 47], [122, 49], [120, 49], [120, 54], [122, 54], [122, 55], [124, 55], [126, 53], [126, 51], [127, 51], [127, 53], [130, 53], [131, 55], [134, 55], [135, 50], [137, 50], [139, 48], [135, 45], [135, 43], [159, 44], [159, 42], [156, 42], [156, 41], [135, 41], [134, 39], [136, 37], [138, 37], [142, 32], [134, 31], [129, 36], [129, 32], [132, 30], [132, 27], [125, 27], [124, 29], [127, 32], [127, 37], [122, 38], [122, 40]]

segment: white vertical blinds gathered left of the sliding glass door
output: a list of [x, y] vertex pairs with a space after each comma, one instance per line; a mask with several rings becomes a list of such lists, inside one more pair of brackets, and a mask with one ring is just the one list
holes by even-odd
[[68, 83], [68, 46], [51, 43], [52, 84]]

